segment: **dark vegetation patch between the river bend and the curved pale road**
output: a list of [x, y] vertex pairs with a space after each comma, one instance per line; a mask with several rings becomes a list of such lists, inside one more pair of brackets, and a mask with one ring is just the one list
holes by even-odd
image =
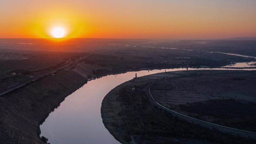
[[[192, 138], [222, 144], [255, 144], [255, 141], [233, 135], [211, 131], [198, 125], [173, 117], [165, 110], [149, 104], [143, 91], [131, 91], [122, 88], [119, 101], [123, 109], [119, 112], [122, 125], [129, 135], [142, 135], [145, 141], [154, 141], [154, 137]], [[163, 142], [164, 144], [164, 142]]]

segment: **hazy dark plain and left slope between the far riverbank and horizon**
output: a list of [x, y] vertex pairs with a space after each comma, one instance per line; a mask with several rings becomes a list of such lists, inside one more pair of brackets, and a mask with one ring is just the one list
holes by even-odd
[[[223, 48], [223, 52], [254, 56], [255, 41], [250, 41], [250, 45], [248, 41], [223, 43], [225, 47], [220, 48], [217, 41], [0, 39], [0, 141], [44, 143], [39, 137], [39, 125], [66, 96], [95, 77], [141, 69], [216, 68], [253, 60], [201, 51], [216, 47]], [[231, 97], [232, 92], [228, 94]], [[243, 95], [250, 97], [247, 93]], [[179, 104], [176, 107], [182, 110]], [[185, 109], [182, 111], [187, 113]]]

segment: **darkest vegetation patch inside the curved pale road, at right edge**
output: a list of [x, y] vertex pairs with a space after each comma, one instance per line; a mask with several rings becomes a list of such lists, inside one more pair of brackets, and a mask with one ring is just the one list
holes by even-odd
[[182, 111], [197, 114], [198, 119], [203, 119], [203, 116], [212, 116], [220, 125], [256, 132], [256, 103], [254, 102], [246, 104], [235, 99], [214, 99], [179, 105], [179, 107]]

